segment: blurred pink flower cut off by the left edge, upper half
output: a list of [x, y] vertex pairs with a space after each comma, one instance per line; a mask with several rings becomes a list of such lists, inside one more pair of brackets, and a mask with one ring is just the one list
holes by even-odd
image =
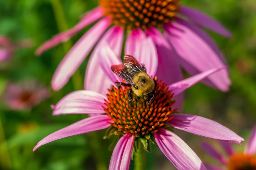
[[8, 37], [0, 36], [0, 62], [8, 60], [14, 50], [18, 48], [29, 48], [33, 45], [29, 39], [13, 43]]

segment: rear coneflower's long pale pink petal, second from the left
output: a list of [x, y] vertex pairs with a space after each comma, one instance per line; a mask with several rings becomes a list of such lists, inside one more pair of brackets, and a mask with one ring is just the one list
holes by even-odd
[[53, 75], [53, 90], [60, 90], [68, 82], [69, 78], [75, 73], [109, 25], [109, 19], [102, 19], [77, 41], [60, 62]]

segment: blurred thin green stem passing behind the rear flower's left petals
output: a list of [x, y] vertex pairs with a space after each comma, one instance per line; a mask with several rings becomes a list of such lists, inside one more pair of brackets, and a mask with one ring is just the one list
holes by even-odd
[[[60, 32], [66, 31], [68, 29], [67, 22], [65, 20], [65, 16], [61, 7], [60, 0], [51, 0], [53, 12], [57, 21], [57, 25], [59, 27]], [[72, 48], [71, 40], [63, 43], [63, 48], [65, 53], [67, 53]], [[72, 76], [72, 82], [75, 90], [83, 89], [83, 80], [81, 73], [77, 70]]]

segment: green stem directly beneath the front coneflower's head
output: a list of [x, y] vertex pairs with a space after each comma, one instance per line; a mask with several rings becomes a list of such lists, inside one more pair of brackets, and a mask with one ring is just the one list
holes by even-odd
[[143, 149], [141, 141], [139, 141], [138, 150], [134, 157], [134, 170], [144, 170], [146, 165], [146, 151]]

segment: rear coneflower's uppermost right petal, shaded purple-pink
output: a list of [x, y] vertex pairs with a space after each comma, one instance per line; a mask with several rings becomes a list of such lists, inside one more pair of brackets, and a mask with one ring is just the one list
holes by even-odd
[[203, 27], [228, 38], [232, 37], [230, 32], [222, 24], [196, 9], [182, 6], [180, 7], [179, 12]]

